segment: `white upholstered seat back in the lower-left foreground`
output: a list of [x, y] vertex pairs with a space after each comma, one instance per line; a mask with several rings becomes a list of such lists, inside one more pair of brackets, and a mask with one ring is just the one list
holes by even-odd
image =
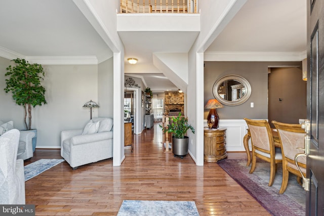
[[0, 204], [25, 204], [24, 161], [17, 159], [19, 131], [0, 137]]

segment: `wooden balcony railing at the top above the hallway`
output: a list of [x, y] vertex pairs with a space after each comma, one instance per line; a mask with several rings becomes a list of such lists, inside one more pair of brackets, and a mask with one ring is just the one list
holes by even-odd
[[197, 0], [120, 0], [120, 13], [196, 14]]

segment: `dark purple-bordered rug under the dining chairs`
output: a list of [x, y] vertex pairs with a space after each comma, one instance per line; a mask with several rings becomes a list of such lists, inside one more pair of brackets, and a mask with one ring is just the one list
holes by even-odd
[[[251, 165], [250, 167], [246, 166], [247, 160], [245, 159], [224, 159], [218, 161], [217, 163], [227, 172], [230, 177], [232, 177], [240, 186], [251, 194], [272, 215], [305, 215], [304, 203], [298, 203], [296, 200], [286, 195], [289, 187], [293, 187], [291, 185], [295, 183], [288, 183], [289, 187], [287, 187], [286, 192], [284, 194], [279, 194], [278, 188], [268, 186], [269, 178], [267, 178], [265, 181], [261, 177], [255, 175], [258, 169], [262, 169], [260, 168], [262, 165], [267, 166], [269, 163], [259, 161], [259, 164], [257, 163], [253, 174], [249, 174]], [[280, 168], [280, 165], [281, 164], [278, 165], [277, 169]], [[270, 169], [270, 165], [268, 166]], [[276, 178], [277, 181], [280, 181], [279, 184], [281, 184], [280, 179], [282, 178], [282, 172], [281, 176], [276, 173]], [[298, 193], [303, 196], [303, 189], [301, 188]]]

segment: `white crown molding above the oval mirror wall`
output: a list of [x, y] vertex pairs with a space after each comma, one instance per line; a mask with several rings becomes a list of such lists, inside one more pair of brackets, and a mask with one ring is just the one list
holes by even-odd
[[204, 61], [231, 62], [289, 62], [302, 61], [307, 57], [303, 52], [205, 52]]

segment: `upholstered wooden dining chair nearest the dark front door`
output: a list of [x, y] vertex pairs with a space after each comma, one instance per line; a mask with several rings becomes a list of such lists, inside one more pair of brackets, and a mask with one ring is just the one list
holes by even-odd
[[[301, 124], [287, 124], [277, 121], [272, 121], [275, 128], [278, 131], [279, 139], [281, 142], [282, 153], [282, 183], [279, 190], [279, 194], [286, 191], [289, 179], [289, 172], [296, 175], [297, 181], [301, 184], [302, 174], [298, 170], [295, 163], [295, 155], [303, 153], [305, 130], [302, 129]], [[298, 165], [303, 172], [303, 176], [306, 177], [306, 157], [299, 157]]]

